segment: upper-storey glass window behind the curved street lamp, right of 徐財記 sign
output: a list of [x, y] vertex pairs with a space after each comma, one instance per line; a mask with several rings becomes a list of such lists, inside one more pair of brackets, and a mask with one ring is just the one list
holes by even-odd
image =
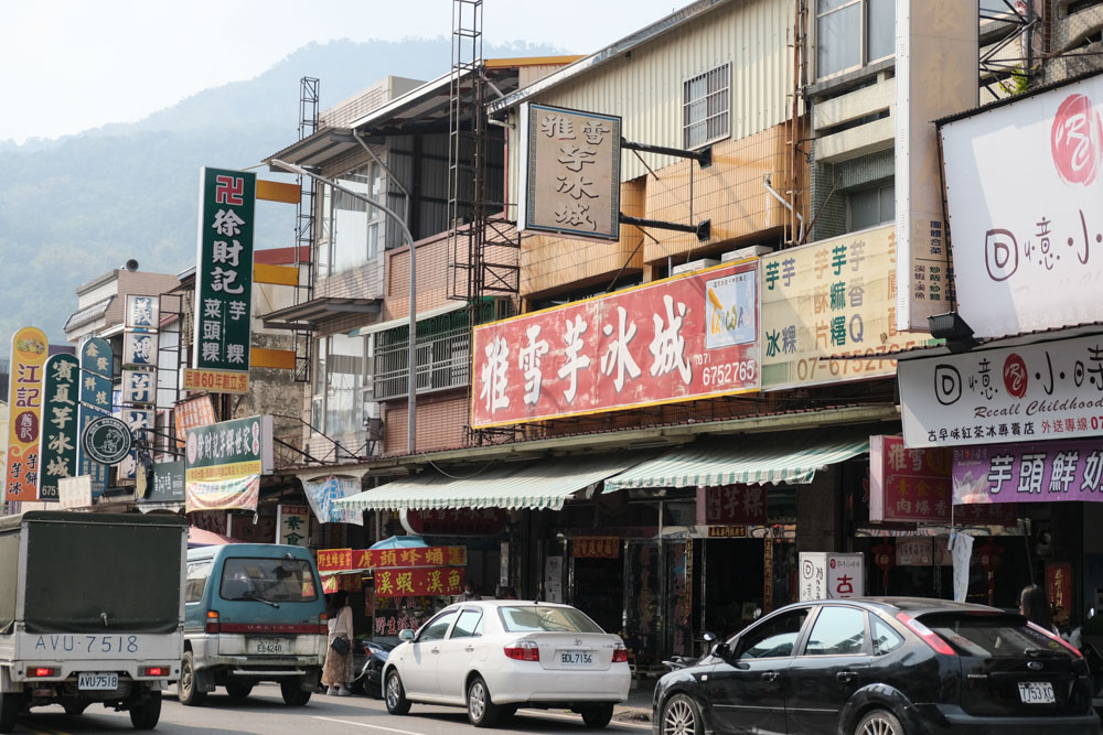
[[[345, 174], [338, 183], [374, 202], [383, 197], [383, 170], [378, 163]], [[384, 215], [362, 198], [329, 185], [323, 190], [318, 272], [331, 275], [363, 266], [378, 255]]]

